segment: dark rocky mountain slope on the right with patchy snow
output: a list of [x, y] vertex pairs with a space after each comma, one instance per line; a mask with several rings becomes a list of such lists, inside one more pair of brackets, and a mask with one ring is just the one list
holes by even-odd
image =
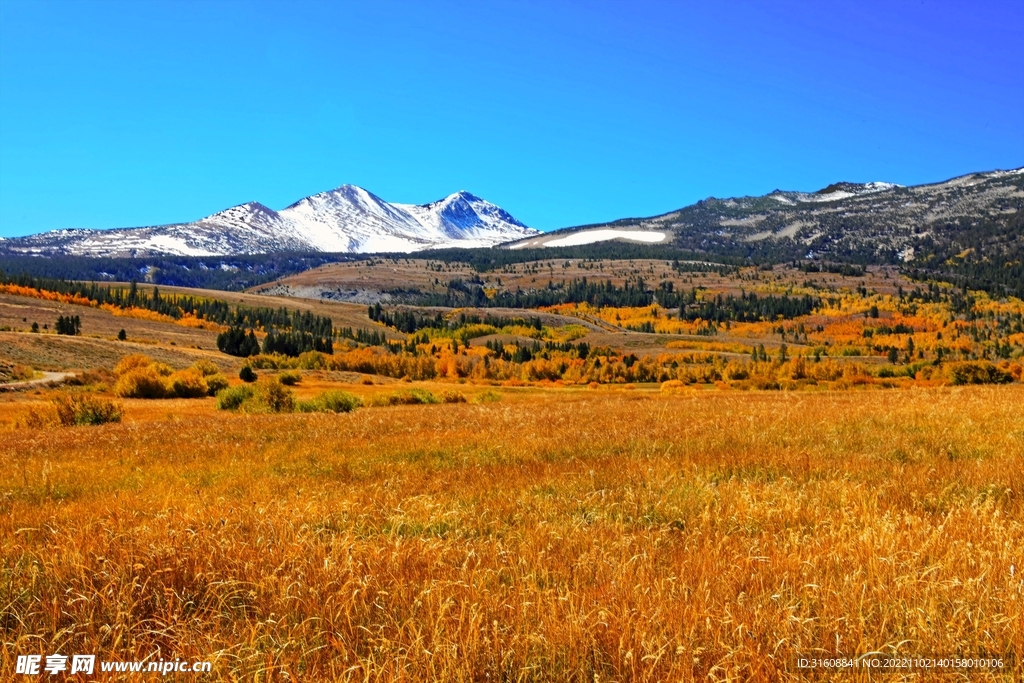
[[1024, 240], [1014, 227], [1022, 211], [1024, 169], [1017, 169], [911, 187], [840, 182], [817, 193], [709, 198], [660, 216], [566, 228], [506, 246], [617, 239], [757, 260], [926, 265], [966, 249], [987, 258], [1016, 253]]

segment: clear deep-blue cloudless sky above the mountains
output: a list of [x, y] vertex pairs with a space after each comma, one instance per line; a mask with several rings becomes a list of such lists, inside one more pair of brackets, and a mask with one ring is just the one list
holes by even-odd
[[343, 183], [551, 229], [1022, 165], [1022, 0], [0, 0], [5, 237]]

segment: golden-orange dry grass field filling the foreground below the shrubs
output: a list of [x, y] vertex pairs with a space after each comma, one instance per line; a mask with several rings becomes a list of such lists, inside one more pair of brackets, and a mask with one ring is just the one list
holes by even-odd
[[0, 433], [0, 678], [56, 651], [257, 681], [1024, 655], [1024, 387], [502, 391]]

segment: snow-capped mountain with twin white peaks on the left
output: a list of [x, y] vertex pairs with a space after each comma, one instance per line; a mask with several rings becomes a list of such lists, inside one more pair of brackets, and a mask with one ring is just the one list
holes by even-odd
[[389, 204], [361, 187], [342, 185], [281, 211], [250, 202], [191, 223], [53, 230], [7, 240], [3, 249], [79, 256], [413, 252], [490, 247], [537, 233], [501, 207], [466, 191], [424, 205]]

